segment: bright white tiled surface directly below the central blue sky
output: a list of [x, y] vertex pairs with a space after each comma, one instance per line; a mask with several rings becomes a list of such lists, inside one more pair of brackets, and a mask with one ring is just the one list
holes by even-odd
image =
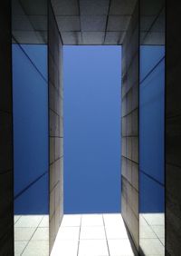
[[51, 256], [133, 256], [118, 214], [64, 215]]

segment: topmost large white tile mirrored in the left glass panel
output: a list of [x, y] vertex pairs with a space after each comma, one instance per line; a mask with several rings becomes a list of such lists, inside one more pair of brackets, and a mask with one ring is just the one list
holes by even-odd
[[23, 215], [16, 223], [15, 227], [33, 228], [37, 227], [43, 220], [43, 215]]

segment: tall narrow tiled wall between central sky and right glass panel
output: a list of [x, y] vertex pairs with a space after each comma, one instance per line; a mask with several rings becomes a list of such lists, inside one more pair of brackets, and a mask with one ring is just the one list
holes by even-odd
[[121, 213], [138, 250], [138, 3], [122, 44]]

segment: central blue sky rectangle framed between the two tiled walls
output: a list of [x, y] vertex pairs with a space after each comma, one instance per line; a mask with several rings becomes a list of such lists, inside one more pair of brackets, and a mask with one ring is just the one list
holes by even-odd
[[64, 213], [120, 212], [120, 46], [63, 47]]

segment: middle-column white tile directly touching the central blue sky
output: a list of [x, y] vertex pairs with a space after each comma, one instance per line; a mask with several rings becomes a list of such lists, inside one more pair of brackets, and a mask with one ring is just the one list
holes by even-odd
[[81, 226], [103, 226], [102, 214], [83, 214]]

